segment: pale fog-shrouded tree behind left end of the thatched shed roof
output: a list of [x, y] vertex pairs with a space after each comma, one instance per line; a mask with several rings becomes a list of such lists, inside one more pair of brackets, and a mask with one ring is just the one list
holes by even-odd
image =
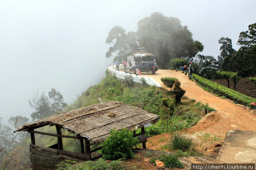
[[38, 96], [37, 91], [32, 100], [29, 100], [30, 107], [35, 109], [35, 112], [31, 114], [33, 121], [57, 114], [67, 106], [63, 100], [63, 96], [55, 88], [52, 88], [48, 92], [48, 95], [49, 97], [42, 92], [42, 95]]

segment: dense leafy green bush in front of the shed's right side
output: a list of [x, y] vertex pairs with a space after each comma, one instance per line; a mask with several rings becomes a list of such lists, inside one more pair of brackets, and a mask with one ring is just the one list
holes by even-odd
[[109, 160], [133, 158], [132, 148], [139, 143], [132, 133], [124, 128], [120, 131], [112, 129], [109, 137], [103, 143], [102, 158]]

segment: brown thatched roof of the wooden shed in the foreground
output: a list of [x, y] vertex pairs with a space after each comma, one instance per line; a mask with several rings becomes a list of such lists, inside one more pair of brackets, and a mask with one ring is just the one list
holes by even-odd
[[[114, 117], [109, 115], [114, 114]], [[112, 128], [129, 130], [159, 119], [158, 115], [123, 102], [111, 101], [63, 112], [36, 122], [24, 124], [16, 131], [29, 131], [46, 125], [60, 125], [63, 129], [97, 143], [105, 141]], [[15, 131], [15, 132], [16, 132]]]

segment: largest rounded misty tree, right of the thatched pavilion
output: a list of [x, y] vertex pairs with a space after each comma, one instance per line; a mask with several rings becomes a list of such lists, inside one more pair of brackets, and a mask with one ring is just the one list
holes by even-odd
[[179, 19], [159, 12], [139, 20], [136, 33], [140, 46], [155, 54], [161, 68], [169, 68], [170, 59], [189, 60], [203, 50], [202, 43], [193, 41], [192, 33]]

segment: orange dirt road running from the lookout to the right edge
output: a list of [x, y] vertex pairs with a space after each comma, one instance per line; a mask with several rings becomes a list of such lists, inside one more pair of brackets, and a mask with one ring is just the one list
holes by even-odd
[[[187, 131], [189, 133], [215, 134], [224, 139], [228, 130], [249, 130], [256, 131], [256, 114], [245, 107], [232, 103], [230, 100], [221, 99], [197, 86], [196, 82], [188, 79], [181, 71], [158, 70], [154, 75], [142, 73], [142, 76], [151, 77], [162, 87], [161, 77], [174, 77], [181, 82], [181, 88], [186, 90], [185, 96], [195, 99], [196, 102], [208, 103], [217, 112], [207, 114], [195, 126]], [[150, 138], [149, 138], [150, 139]], [[152, 139], [153, 140], [153, 139]], [[150, 149], [150, 145], [147, 144]], [[152, 147], [152, 149], [156, 149]]]

